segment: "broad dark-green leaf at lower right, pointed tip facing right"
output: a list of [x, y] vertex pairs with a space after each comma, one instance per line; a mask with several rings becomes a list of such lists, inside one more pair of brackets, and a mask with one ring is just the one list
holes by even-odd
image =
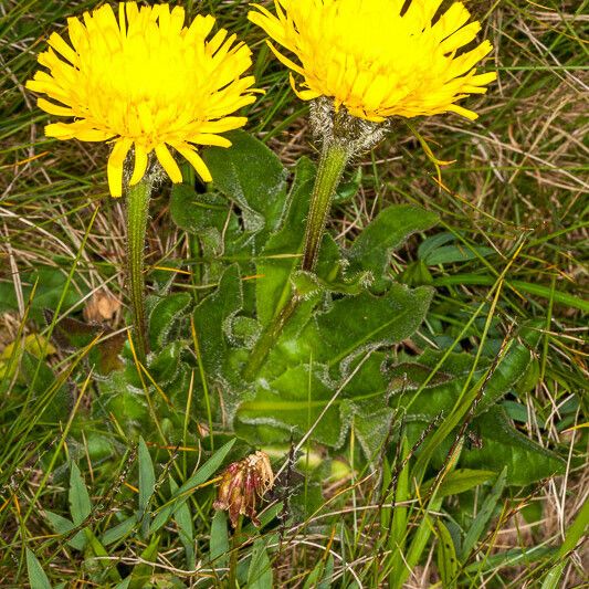
[[564, 461], [513, 428], [499, 407], [476, 418], [473, 428], [483, 439], [483, 448], [463, 451], [462, 466], [496, 473], [507, 467], [506, 484], [518, 486], [565, 472]]

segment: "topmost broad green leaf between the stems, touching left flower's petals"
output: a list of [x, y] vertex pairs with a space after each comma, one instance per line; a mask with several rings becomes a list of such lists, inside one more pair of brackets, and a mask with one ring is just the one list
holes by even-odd
[[211, 147], [202, 157], [213, 187], [241, 209], [246, 232], [273, 231], [282, 215], [286, 170], [262, 141], [243, 130], [224, 134], [229, 149]]

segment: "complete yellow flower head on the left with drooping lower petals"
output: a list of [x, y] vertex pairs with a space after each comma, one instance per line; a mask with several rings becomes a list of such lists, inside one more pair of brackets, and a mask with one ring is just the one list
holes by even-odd
[[51, 115], [73, 118], [45, 127], [48, 137], [82, 141], [112, 140], [108, 159], [111, 193], [119, 197], [127, 154], [133, 148], [129, 185], [144, 177], [149, 154], [172, 182], [182, 176], [169, 148], [181, 154], [206, 181], [211, 180], [196, 145], [229, 147], [219, 134], [245, 124], [228, 116], [255, 101], [252, 76], [240, 77], [251, 65], [251, 52], [224, 29], [211, 39], [211, 15], [198, 15], [185, 27], [185, 11], [168, 4], [138, 8], [118, 4], [118, 19], [105, 4], [83, 22], [67, 20], [70, 44], [57, 33], [39, 55], [49, 72], [27, 83], [45, 94], [38, 105]]

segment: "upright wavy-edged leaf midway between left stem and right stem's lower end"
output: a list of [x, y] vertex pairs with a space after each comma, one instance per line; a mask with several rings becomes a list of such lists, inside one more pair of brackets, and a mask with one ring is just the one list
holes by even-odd
[[202, 364], [212, 374], [222, 374], [231, 343], [228, 329], [243, 304], [240, 270], [236, 264], [223, 273], [219, 287], [194, 309], [194, 329]]

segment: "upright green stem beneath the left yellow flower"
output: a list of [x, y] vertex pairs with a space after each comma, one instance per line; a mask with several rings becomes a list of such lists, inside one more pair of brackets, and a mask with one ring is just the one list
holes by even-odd
[[133, 308], [134, 343], [139, 360], [144, 361], [149, 346], [145, 318], [145, 235], [151, 183], [141, 180], [127, 191], [127, 271]]

